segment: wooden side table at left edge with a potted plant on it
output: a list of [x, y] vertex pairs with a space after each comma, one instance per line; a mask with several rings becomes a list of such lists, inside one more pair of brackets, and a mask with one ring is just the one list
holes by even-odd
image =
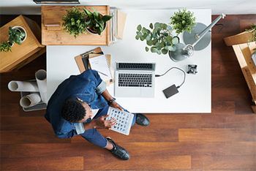
[[21, 44], [14, 44], [11, 52], [0, 52], [0, 72], [10, 72], [28, 64], [45, 53], [45, 46], [41, 45], [41, 29], [33, 20], [18, 16], [0, 28], [0, 42], [8, 40], [9, 27], [22, 26], [27, 37]]

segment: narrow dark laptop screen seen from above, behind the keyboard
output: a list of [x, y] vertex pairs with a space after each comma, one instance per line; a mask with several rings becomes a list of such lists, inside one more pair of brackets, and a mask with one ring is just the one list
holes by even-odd
[[123, 70], [152, 70], [153, 64], [150, 63], [118, 63], [117, 69]]

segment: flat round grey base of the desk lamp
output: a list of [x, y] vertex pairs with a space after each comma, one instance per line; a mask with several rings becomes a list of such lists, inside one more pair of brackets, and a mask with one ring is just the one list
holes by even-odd
[[[200, 34], [207, 26], [203, 23], [197, 23], [193, 28], [191, 33], [184, 31], [183, 40], [186, 45], [192, 45], [195, 41], [197, 41], [195, 35]], [[211, 42], [211, 31], [208, 31], [202, 39], [195, 45], [195, 50], [203, 50], [206, 48]]]

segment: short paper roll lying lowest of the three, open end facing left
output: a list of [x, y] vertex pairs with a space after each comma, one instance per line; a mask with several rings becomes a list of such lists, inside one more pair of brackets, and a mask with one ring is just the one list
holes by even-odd
[[39, 102], [41, 102], [41, 97], [39, 96], [39, 94], [29, 94], [29, 95], [23, 96], [20, 99], [20, 106], [32, 107], [38, 104]]

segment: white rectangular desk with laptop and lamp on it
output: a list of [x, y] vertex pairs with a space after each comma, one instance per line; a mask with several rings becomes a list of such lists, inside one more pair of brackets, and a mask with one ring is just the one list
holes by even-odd
[[[211, 44], [203, 50], [195, 51], [194, 56], [184, 61], [173, 62], [168, 55], [157, 55], [145, 51], [146, 42], [135, 39], [138, 24], [149, 26], [149, 23], [170, 22], [173, 9], [127, 9], [127, 23], [124, 38], [114, 45], [102, 46], [105, 54], [111, 54], [113, 61], [155, 62], [156, 74], [162, 74], [171, 66], [187, 71], [187, 64], [197, 64], [197, 75], [187, 75], [186, 82], [178, 89], [179, 93], [166, 99], [162, 90], [180, 85], [184, 75], [175, 69], [163, 77], [156, 77], [154, 98], [118, 98], [117, 102], [132, 113], [211, 113]], [[211, 23], [211, 9], [191, 10], [196, 21]], [[181, 42], [183, 42], [181, 38]], [[47, 80], [48, 99], [57, 86], [70, 75], [80, 74], [75, 63], [75, 56], [93, 49], [96, 46], [47, 46]], [[113, 84], [108, 87], [113, 95]]]

